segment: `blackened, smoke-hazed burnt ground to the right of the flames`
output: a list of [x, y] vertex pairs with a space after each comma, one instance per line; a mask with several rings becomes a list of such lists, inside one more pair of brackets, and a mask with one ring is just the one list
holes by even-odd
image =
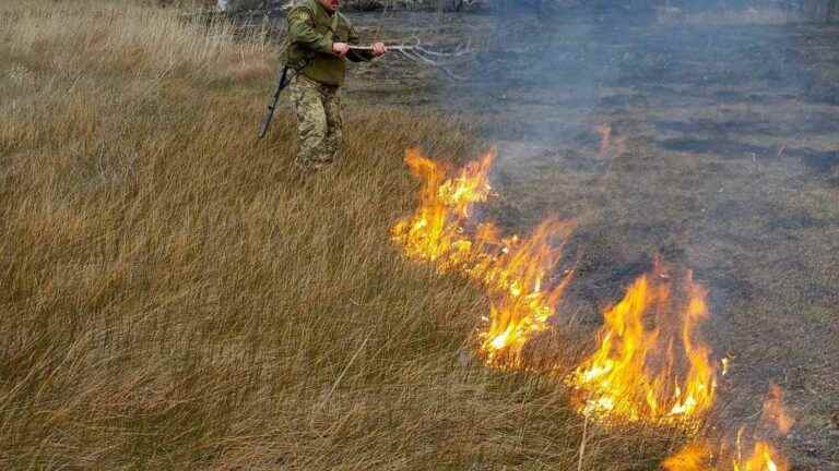
[[783, 444], [794, 469], [839, 470], [839, 26], [354, 21], [440, 49], [471, 38], [481, 52], [454, 67], [465, 81], [391, 56], [354, 70], [348, 101], [475, 120], [500, 154], [494, 217], [520, 232], [578, 221], [568, 302], [592, 330], [654, 254], [693, 269], [710, 292], [705, 335], [734, 357], [721, 420], [754, 422], [776, 382], [797, 419]]

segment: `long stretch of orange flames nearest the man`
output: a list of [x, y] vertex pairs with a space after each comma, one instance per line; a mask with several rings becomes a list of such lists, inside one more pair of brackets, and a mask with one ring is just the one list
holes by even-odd
[[[571, 225], [548, 219], [528, 239], [501, 238], [492, 222], [470, 227], [471, 209], [491, 195], [488, 173], [495, 159], [480, 160], [451, 172], [417, 150], [405, 162], [422, 180], [420, 207], [392, 229], [406, 256], [433, 262], [440, 271], [457, 271], [483, 285], [491, 300], [488, 326], [480, 334], [480, 352], [488, 364], [519, 364], [519, 353], [534, 335], [550, 328], [570, 274], [553, 288], [548, 277], [562, 255]], [[448, 173], [454, 177], [447, 178]], [[474, 226], [474, 225], [473, 225]]]

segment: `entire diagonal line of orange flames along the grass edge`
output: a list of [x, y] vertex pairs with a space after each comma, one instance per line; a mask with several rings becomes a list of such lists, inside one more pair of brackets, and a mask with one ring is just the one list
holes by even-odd
[[[601, 154], [622, 147], [611, 142], [608, 126], [598, 133]], [[754, 428], [725, 431], [709, 421], [729, 358], [716, 355], [701, 338], [700, 327], [711, 316], [708, 291], [690, 270], [671, 270], [666, 261], [657, 261], [603, 310], [603, 325], [587, 355], [547, 364], [534, 360], [535, 340], [562, 328], [564, 295], [576, 276], [574, 262], [562, 264], [575, 259], [565, 256], [575, 221], [547, 218], [521, 235], [474, 217], [478, 205], [496, 196], [489, 181], [495, 159], [489, 150], [450, 168], [409, 149], [405, 162], [422, 184], [418, 206], [391, 230], [405, 257], [482, 287], [489, 312], [475, 329], [475, 355], [487, 367], [555, 378], [587, 423], [684, 433], [690, 440], [661, 463], [666, 471], [790, 470], [773, 445], [793, 424], [778, 386], [771, 386]]]

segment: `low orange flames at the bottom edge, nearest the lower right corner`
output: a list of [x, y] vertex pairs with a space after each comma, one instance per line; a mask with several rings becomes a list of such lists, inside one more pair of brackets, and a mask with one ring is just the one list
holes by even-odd
[[789, 462], [767, 438], [787, 435], [793, 425], [782, 402], [783, 391], [771, 385], [760, 423], [751, 437], [741, 426], [733, 444], [723, 442], [717, 450], [708, 440], [689, 444], [662, 467], [666, 471], [788, 471]]

